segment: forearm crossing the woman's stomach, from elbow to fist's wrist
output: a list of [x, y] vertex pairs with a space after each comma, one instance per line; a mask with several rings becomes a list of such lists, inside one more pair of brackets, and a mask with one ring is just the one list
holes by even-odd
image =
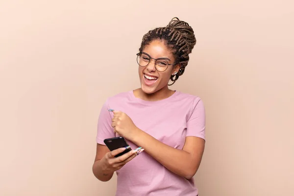
[[177, 175], [190, 179], [196, 173], [191, 154], [187, 151], [170, 147], [142, 130], [132, 138], [132, 142]]

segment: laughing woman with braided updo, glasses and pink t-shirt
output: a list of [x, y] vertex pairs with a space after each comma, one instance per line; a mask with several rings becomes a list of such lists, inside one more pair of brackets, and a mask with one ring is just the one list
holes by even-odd
[[[137, 54], [141, 88], [104, 103], [93, 172], [101, 181], [117, 172], [117, 196], [198, 195], [193, 176], [205, 145], [203, 102], [168, 87], [170, 79], [173, 84], [184, 73], [195, 44], [192, 27], [178, 18], [150, 30]], [[103, 140], [116, 136], [145, 151], [115, 157], [125, 148], [110, 152]]]

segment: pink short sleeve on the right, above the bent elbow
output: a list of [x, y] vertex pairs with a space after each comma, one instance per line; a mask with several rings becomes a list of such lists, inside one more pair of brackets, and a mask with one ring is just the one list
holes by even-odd
[[205, 108], [202, 100], [198, 97], [193, 102], [192, 115], [187, 121], [187, 136], [195, 136], [205, 140]]

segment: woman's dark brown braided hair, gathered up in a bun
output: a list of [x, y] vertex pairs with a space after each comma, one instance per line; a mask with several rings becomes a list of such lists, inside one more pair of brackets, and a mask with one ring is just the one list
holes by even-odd
[[[171, 76], [172, 84], [185, 72], [188, 65], [189, 54], [196, 44], [192, 27], [178, 18], [173, 18], [166, 27], [149, 30], [142, 39], [140, 52], [153, 40], [163, 40], [175, 57], [176, 64], [180, 64], [179, 71]], [[172, 85], [172, 84], [169, 84]]]

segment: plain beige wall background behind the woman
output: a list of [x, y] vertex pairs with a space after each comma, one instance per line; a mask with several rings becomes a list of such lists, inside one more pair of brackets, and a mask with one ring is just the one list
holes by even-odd
[[172, 89], [206, 106], [200, 196], [293, 196], [293, 7], [0, 0], [0, 195], [114, 195], [116, 177], [92, 174], [100, 107], [139, 87], [142, 36], [177, 16], [197, 44]]

